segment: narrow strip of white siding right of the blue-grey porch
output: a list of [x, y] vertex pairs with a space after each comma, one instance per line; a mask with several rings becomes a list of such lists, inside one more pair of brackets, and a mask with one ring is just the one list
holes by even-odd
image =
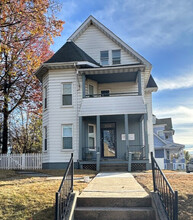
[[146, 93], [144, 96], [145, 104], [147, 106], [147, 126], [148, 126], [148, 140], [149, 140], [149, 158], [150, 152], [154, 152], [153, 142], [153, 121], [152, 121], [152, 94]]

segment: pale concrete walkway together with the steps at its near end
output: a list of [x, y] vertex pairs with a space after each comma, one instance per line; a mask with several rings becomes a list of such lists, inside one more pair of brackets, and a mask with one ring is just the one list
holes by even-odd
[[129, 173], [99, 173], [77, 198], [74, 220], [155, 220], [151, 197]]

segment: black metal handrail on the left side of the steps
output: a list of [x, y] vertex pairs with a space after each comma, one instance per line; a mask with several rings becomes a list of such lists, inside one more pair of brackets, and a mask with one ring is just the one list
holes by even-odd
[[73, 192], [74, 163], [73, 154], [64, 173], [58, 192], [56, 192], [55, 220], [65, 220], [68, 205]]

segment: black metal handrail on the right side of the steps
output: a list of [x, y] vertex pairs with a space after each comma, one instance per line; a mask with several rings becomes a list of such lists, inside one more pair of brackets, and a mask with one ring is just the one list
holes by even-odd
[[169, 220], [178, 220], [178, 191], [174, 191], [151, 152], [153, 188]]

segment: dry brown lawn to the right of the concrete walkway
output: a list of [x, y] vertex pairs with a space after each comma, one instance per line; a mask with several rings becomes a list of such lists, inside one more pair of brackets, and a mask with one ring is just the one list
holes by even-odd
[[[193, 175], [164, 172], [174, 190], [179, 193], [179, 220], [193, 219]], [[136, 174], [137, 181], [147, 190], [153, 190], [152, 174]]]

